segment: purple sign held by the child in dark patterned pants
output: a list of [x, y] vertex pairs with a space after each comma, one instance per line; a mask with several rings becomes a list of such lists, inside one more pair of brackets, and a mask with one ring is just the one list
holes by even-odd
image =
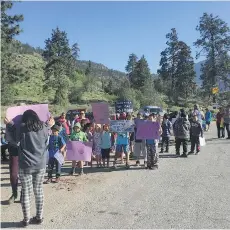
[[138, 120], [136, 123], [137, 132], [136, 139], [147, 140], [147, 139], [159, 139], [160, 138], [160, 123]]

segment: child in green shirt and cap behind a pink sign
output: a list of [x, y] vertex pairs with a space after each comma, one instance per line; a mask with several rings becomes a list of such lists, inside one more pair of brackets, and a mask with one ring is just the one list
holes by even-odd
[[[73, 133], [70, 136], [71, 141], [88, 141], [87, 136], [84, 132], [81, 131], [81, 124], [76, 123], [74, 125]], [[80, 172], [79, 175], [83, 175], [83, 161], [79, 161]], [[70, 171], [70, 175], [73, 175], [76, 170], [76, 161], [72, 161], [72, 170]]]

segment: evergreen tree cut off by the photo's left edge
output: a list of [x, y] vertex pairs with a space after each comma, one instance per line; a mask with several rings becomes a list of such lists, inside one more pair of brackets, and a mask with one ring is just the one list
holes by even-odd
[[19, 23], [23, 21], [23, 15], [8, 15], [7, 10], [12, 7], [12, 1], [1, 1], [1, 98], [3, 105], [13, 102], [15, 92], [11, 84], [22, 77], [21, 69], [16, 69], [12, 63], [12, 49], [16, 45], [14, 37], [21, 32]]

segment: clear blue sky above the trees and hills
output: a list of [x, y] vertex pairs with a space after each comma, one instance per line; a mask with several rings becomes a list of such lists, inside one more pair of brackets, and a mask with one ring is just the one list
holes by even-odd
[[[192, 46], [204, 12], [219, 15], [230, 26], [230, 2], [20, 2], [10, 14], [22, 13], [23, 33], [17, 38], [44, 48], [57, 26], [77, 42], [80, 59], [124, 71], [130, 53], [145, 55], [153, 73], [165, 35], [175, 27], [179, 39]], [[195, 57], [195, 48], [192, 47]], [[197, 61], [196, 61], [197, 62]]]

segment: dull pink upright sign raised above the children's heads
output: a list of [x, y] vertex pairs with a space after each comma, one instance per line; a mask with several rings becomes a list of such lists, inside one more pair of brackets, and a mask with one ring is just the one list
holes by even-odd
[[109, 106], [107, 103], [93, 103], [92, 110], [96, 123], [109, 124]]

